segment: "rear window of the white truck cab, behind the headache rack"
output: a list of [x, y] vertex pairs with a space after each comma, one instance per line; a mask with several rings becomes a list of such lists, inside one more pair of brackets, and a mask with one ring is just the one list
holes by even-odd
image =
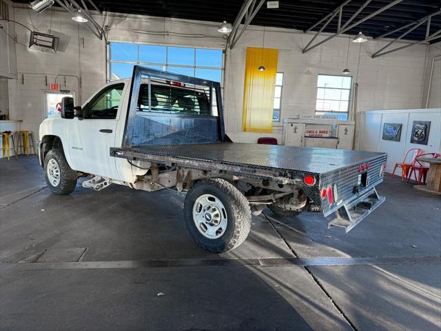
[[141, 84], [137, 111], [210, 116], [209, 98], [203, 90], [153, 85], [149, 109], [148, 85]]

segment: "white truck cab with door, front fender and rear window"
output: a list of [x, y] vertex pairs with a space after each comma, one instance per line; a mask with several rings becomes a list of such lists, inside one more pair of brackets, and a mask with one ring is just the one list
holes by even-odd
[[[127, 183], [134, 183], [137, 176], [145, 174], [142, 166], [138, 168], [111, 157], [109, 152], [110, 148], [123, 146], [131, 82], [121, 79], [107, 83], [81, 108], [76, 107], [76, 114], [45, 119], [39, 132], [41, 165], [55, 139], [63, 147], [70, 168], [77, 172]], [[148, 134], [132, 137], [137, 139], [134, 143], [219, 140], [213, 134], [218, 132], [216, 107], [212, 107], [206, 90], [187, 88], [170, 80], [143, 81], [136, 113], [140, 116], [134, 125], [142, 126], [142, 131]]]

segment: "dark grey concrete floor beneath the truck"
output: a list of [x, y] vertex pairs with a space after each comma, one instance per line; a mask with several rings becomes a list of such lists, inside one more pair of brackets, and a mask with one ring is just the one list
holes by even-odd
[[390, 177], [378, 191], [348, 234], [265, 210], [217, 255], [189, 238], [181, 194], [60, 197], [36, 157], [1, 159], [0, 329], [440, 330], [441, 199]]

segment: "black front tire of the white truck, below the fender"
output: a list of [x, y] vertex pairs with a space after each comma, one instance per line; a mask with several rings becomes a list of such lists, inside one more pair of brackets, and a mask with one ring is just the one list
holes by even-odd
[[[50, 162], [57, 162], [59, 167], [59, 182], [51, 182], [48, 177], [48, 165]], [[49, 190], [54, 194], [65, 195], [75, 190], [78, 174], [72, 170], [66, 161], [62, 151], [50, 150], [44, 158], [44, 178], [48, 183]]]

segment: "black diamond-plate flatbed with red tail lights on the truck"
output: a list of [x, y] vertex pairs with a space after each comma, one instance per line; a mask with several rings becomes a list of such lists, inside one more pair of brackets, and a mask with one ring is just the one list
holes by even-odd
[[[134, 161], [208, 170], [232, 174], [236, 177], [269, 179], [280, 185], [299, 183], [311, 200], [321, 204], [325, 216], [380, 183], [384, 163], [387, 161], [387, 154], [378, 152], [250, 143], [188, 143], [123, 147], [111, 148], [110, 154]], [[361, 177], [362, 174], [366, 174], [366, 179], [364, 185], [360, 186], [358, 181], [359, 175]], [[305, 185], [302, 181], [305, 175], [314, 176], [316, 185]], [[321, 197], [322, 190], [329, 187], [332, 187], [336, 198], [333, 203]], [[358, 192], [354, 192], [355, 188]]]

